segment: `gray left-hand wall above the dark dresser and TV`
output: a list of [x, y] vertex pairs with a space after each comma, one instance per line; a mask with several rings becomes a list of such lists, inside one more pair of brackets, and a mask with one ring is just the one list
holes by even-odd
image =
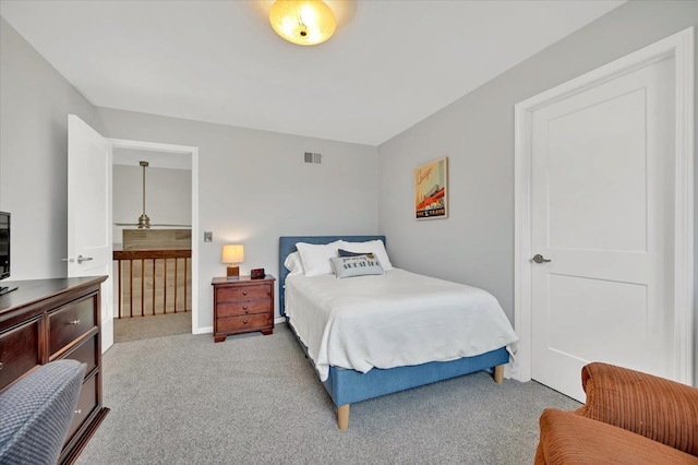
[[0, 210], [12, 213], [12, 279], [65, 276], [68, 114], [95, 108], [0, 17]]

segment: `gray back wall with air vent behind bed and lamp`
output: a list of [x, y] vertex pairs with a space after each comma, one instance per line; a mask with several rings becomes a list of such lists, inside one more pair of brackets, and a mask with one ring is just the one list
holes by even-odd
[[[224, 243], [244, 245], [242, 274], [278, 276], [279, 236], [377, 233], [376, 147], [97, 110], [107, 138], [198, 147], [198, 327], [213, 324], [210, 279], [225, 274]], [[305, 164], [304, 152], [322, 153], [323, 164]]]

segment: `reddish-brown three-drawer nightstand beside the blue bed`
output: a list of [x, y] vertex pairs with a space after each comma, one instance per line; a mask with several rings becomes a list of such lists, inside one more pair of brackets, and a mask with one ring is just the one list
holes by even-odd
[[262, 279], [214, 277], [214, 341], [227, 336], [274, 331], [274, 282], [270, 274]]

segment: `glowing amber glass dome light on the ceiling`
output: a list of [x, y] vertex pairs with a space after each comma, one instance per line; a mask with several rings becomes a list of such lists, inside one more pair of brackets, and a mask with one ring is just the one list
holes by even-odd
[[335, 13], [321, 0], [276, 0], [269, 11], [274, 31], [298, 45], [317, 45], [337, 28]]

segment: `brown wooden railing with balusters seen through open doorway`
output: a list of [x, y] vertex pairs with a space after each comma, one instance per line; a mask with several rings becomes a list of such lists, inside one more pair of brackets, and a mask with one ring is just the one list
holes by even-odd
[[[167, 314], [168, 294], [173, 297], [171, 310], [186, 312], [191, 310], [191, 249], [161, 249], [161, 250], [115, 250], [113, 260], [118, 262], [118, 296], [119, 318], [132, 318], [134, 310], [134, 295], [140, 294], [140, 317]], [[123, 262], [128, 264], [123, 265]], [[134, 271], [135, 263], [135, 271]], [[146, 265], [149, 273], [146, 275]], [[183, 272], [180, 273], [180, 267]], [[140, 269], [140, 270], [137, 270]], [[168, 269], [173, 276], [168, 279]], [[140, 273], [139, 273], [140, 271]], [[135, 276], [134, 276], [135, 273]], [[124, 276], [127, 275], [128, 276]], [[139, 283], [140, 282], [140, 283]], [[148, 282], [146, 286], [146, 282]], [[135, 291], [134, 293], [134, 283]], [[125, 286], [124, 286], [125, 284]], [[170, 290], [168, 291], [168, 285]], [[124, 293], [128, 291], [128, 299]], [[139, 293], [140, 291], [140, 293]], [[146, 294], [151, 294], [151, 312], [146, 312]], [[161, 299], [158, 299], [161, 294]], [[183, 299], [178, 299], [183, 295]], [[128, 300], [129, 311], [125, 314], [124, 300]], [[161, 305], [158, 308], [158, 300]], [[181, 303], [183, 300], [183, 308]], [[136, 298], [136, 302], [139, 299]], [[161, 311], [160, 311], [161, 310]], [[137, 317], [137, 314], [136, 314]]]

